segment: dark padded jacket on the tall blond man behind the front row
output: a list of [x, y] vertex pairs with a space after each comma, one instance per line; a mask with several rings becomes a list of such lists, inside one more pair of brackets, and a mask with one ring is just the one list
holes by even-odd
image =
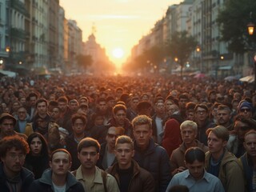
[[134, 160], [154, 177], [154, 191], [166, 191], [171, 178], [170, 158], [166, 150], [155, 143], [153, 138], [150, 138], [150, 144], [145, 151], [141, 151], [134, 142], [134, 150]]

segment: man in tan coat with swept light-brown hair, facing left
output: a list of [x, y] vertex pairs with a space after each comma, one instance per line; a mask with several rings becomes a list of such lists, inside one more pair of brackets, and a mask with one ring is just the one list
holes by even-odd
[[226, 192], [245, 190], [242, 164], [226, 150], [229, 131], [224, 126], [215, 126], [206, 131], [209, 151], [206, 153], [206, 171], [218, 177]]

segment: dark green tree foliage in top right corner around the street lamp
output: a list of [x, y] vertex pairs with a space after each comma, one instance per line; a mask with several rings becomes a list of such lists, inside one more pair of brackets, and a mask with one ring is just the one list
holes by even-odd
[[[250, 19], [250, 12], [253, 20]], [[254, 22], [256, 25], [255, 0], [226, 0], [224, 8], [219, 11], [218, 25], [221, 30], [221, 40], [228, 42], [228, 50], [243, 54], [250, 48], [250, 42], [256, 40], [249, 37], [247, 24]]]

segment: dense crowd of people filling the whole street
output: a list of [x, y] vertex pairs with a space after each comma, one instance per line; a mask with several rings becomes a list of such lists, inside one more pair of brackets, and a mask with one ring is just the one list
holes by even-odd
[[249, 84], [2, 78], [1, 191], [256, 191]]

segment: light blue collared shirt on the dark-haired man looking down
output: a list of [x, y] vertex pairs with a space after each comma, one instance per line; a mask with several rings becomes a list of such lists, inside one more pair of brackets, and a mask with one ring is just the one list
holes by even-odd
[[166, 192], [170, 190], [172, 186], [183, 185], [187, 186], [190, 192], [225, 192], [222, 182], [212, 174], [205, 171], [203, 177], [199, 180], [195, 180], [189, 170], [184, 170], [182, 173], [175, 174], [171, 179]]

